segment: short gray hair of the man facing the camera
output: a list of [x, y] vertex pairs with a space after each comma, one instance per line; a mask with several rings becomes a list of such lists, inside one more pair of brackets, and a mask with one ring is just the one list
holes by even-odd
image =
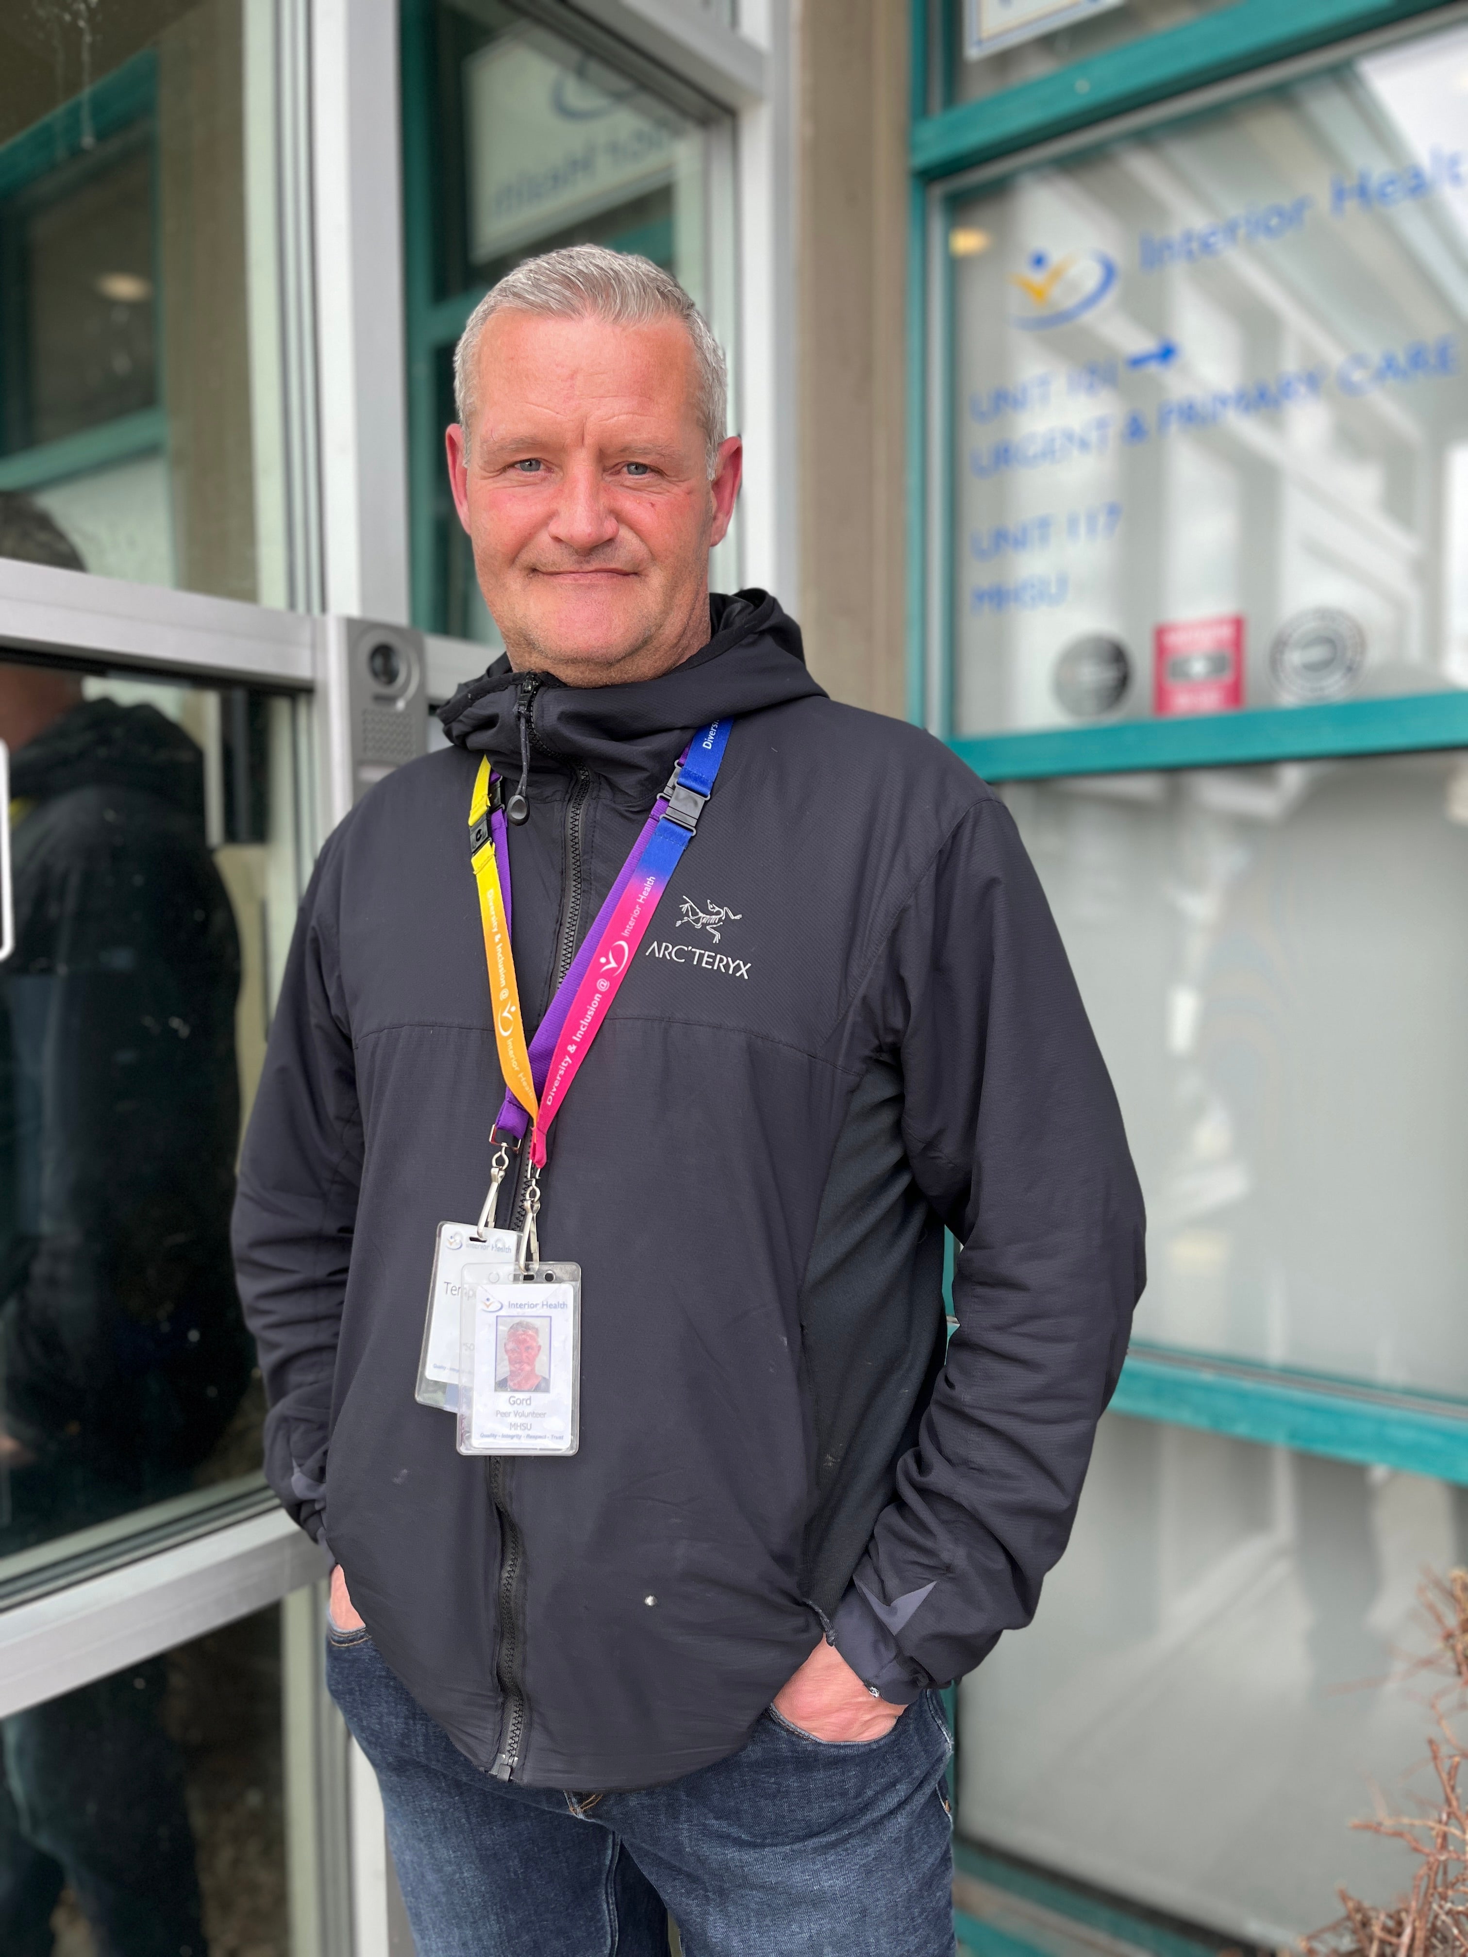
[[527, 258], [513, 272], [505, 272], [499, 284], [491, 286], [474, 307], [454, 348], [454, 407], [466, 442], [474, 411], [480, 405], [480, 339], [495, 313], [546, 313], [552, 319], [595, 317], [613, 327], [648, 327], [656, 319], [681, 321], [693, 341], [693, 368], [699, 380], [697, 413], [712, 478], [728, 417], [724, 348], [671, 272], [664, 272], [652, 258], [607, 250], [605, 245], [566, 245], [562, 250]]

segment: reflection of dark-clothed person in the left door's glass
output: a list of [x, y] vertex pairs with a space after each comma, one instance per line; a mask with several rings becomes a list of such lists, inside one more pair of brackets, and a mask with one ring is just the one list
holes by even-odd
[[[31, 499], [0, 556], [82, 569]], [[0, 965], [0, 1554], [178, 1495], [251, 1378], [229, 1262], [239, 941], [204, 755], [155, 706], [0, 663], [16, 949]], [[0, 1564], [0, 1571], [4, 1566]], [[204, 1957], [149, 1660], [4, 1720], [0, 1951]]]

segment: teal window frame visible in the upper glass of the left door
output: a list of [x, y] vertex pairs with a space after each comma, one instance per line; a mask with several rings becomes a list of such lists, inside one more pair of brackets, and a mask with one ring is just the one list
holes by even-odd
[[[0, 145], [0, 204], [70, 162], [72, 157], [80, 157], [92, 143], [106, 143], [141, 121], [151, 123], [157, 198], [157, 110], [159, 57], [151, 47], [145, 47], [92, 86], [86, 100], [86, 119], [80, 98], [72, 98], [10, 143]], [[153, 303], [159, 307], [157, 264], [153, 290]], [[0, 454], [0, 491], [45, 489], [51, 483], [90, 476], [94, 470], [139, 456], [164, 454], [168, 448], [168, 411], [162, 401], [162, 327], [157, 313], [155, 344], [159, 348], [159, 401], [153, 407], [117, 415], [114, 421], [100, 421], [92, 429], [78, 429], [55, 442], [35, 442], [29, 448]]]

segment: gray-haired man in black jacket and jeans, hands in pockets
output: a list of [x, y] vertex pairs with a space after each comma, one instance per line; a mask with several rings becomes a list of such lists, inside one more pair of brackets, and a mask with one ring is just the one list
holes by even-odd
[[[687, 294], [534, 258], [456, 387], [505, 656], [321, 853], [235, 1219], [331, 1691], [419, 1957], [949, 1957], [941, 1687], [1033, 1615], [1141, 1290], [1106, 1069], [996, 796], [709, 593]], [[478, 1362], [415, 1401], [474, 1215], [544, 1446], [476, 1444]]]

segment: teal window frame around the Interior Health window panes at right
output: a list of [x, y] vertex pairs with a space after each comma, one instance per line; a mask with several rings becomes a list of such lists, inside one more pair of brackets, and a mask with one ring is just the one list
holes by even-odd
[[[951, 708], [949, 417], [943, 413], [951, 374], [947, 211], [951, 198], [971, 194], [965, 176], [983, 170], [988, 188], [1026, 168], [1043, 145], [1065, 141], [1067, 155], [1080, 153], [1086, 131], [1094, 129], [1096, 143], [1106, 143], [1122, 117], [1157, 127], [1192, 114], [1206, 90], [1237, 90], [1239, 98], [1253, 94], [1255, 86], [1264, 92], [1278, 84], [1284, 63], [1323, 57], [1380, 29], [1413, 22], [1431, 27], [1431, 16], [1445, 12], [1452, 0], [1290, 0], [1288, 6], [1235, 0], [1037, 80], [930, 110], [930, 23], [938, 12], [947, 25], [943, 8], [951, 4], [955, 0], [932, 8], [930, 0], [912, 0], [910, 10], [908, 718], [930, 726], [990, 783], [1468, 750], [1468, 695], [957, 736]], [[941, 82], [947, 88], [945, 74]], [[1112, 1409], [1131, 1419], [1468, 1485], [1468, 1399], [1450, 1395], [1386, 1391], [1362, 1380], [1133, 1341]], [[973, 1875], [1061, 1918], [1106, 1930], [1157, 1957], [1206, 1957], [1231, 1941], [1200, 1926], [1170, 1924], [1155, 1912], [1129, 1908], [1120, 1896], [1098, 1898], [1059, 1875], [1014, 1867], [977, 1842], [957, 1840], [955, 1863], [959, 1875]], [[955, 1912], [955, 1928], [961, 1947], [977, 1957], [1041, 1957], [1035, 1945], [963, 1910]]]

